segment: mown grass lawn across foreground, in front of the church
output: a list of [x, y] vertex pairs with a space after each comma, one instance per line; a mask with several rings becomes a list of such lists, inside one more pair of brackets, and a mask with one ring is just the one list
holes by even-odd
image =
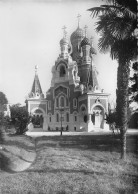
[[[35, 149], [28, 137], [8, 137], [5, 148]], [[127, 135], [120, 160], [112, 135], [38, 137], [36, 159], [24, 172], [0, 170], [1, 194], [138, 194], [138, 136]], [[14, 154], [14, 153], [12, 153]]]

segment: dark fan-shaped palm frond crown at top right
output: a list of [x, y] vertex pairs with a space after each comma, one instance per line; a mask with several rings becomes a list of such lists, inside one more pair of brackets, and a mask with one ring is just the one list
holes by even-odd
[[[137, 42], [132, 37], [136, 28], [136, 14], [122, 0], [111, 0], [112, 5], [91, 8], [93, 17], [98, 15], [96, 32], [100, 33], [98, 48], [100, 52], [110, 51], [112, 59], [122, 56], [129, 61], [137, 56]], [[135, 1], [135, 0], [132, 0]]]

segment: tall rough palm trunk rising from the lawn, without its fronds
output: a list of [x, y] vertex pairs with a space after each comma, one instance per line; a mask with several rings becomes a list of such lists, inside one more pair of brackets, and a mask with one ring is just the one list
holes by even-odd
[[117, 125], [120, 128], [121, 159], [126, 158], [126, 131], [128, 110], [129, 63], [119, 59], [117, 77]]

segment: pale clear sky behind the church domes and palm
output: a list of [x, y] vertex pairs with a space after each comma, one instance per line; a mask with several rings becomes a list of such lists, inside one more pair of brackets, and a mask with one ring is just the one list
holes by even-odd
[[60, 54], [63, 26], [70, 38], [77, 28], [88, 26], [97, 55], [93, 58], [100, 87], [115, 101], [117, 62], [109, 54], [99, 53], [96, 19], [87, 9], [99, 6], [101, 0], [0, 0], [0, 91], [10, 104], [24, 104], [38, 66], [43, 93], [51, 84], [51, 68]]

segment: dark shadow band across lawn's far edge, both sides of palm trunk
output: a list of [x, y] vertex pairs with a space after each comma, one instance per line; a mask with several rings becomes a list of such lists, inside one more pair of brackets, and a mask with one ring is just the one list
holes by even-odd
[[[42, 142], [41, 142], [42, 141]], [[45, 142], [44, 142], [45, 141]], [[120, 152], [120, 138], [112, 135], [39, 137], [37, 150], [43, 148], [91, 149], [94, 151]], [[137, 152], [138, 136], [127, 137], [127, 152]]]

